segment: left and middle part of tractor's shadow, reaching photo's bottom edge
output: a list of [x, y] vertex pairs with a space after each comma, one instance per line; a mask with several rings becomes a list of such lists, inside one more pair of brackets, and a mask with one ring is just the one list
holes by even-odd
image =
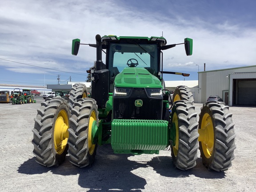
[[111, 145], [98, 147], [94, 164], [91, 167], [77, 168], [69, 162], [69, 156], [59, 167], [46, 168], [32, 157], [18, 168], [21, 174], [53, 174], [70, 176], [79, 175], [78, 184], [82, 188], [95, 191], [134, 191], [141, 192], [147, 184], [146, 180], [131, 171], [139, 167], [135, 161], [128, 160], [129, 154], [113, 154]]

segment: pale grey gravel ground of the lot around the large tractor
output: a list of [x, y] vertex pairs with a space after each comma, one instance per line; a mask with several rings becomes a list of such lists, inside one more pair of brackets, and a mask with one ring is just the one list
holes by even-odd
[[[208, 171], [200, 153], [196, 167], [173, 168], [170, 151], [159, 155], [113, 154], [110, 145], [97, 149], [95, 164], [76, 168], [66, 157], [64, 164], [45, 168], [33, 155], [32, 128], [35, 104], [0, 104], [0, 188], [3, 192], [252, 192], [256, 191], [256, 108], [230, 107], [236, 132], [235, 160], [225, 172]], [[195, 104], [200, 113], [202, 104]], [[199, 117], [197, 117], [199, 118]]]

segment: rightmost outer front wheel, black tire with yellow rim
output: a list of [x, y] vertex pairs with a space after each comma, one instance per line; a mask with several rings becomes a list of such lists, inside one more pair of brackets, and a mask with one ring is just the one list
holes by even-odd
[[232, 113], [224, 102], [206, 102], [199, 115], [199, 148], [203, 164], [215, 171], [225, 171], [235, 158], [235, 131]]

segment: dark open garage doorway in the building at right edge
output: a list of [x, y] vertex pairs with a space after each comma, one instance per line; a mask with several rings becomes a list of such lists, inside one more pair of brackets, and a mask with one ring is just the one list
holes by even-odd
[[256, 80], [238, 80], [237, 104], [256, 105]]

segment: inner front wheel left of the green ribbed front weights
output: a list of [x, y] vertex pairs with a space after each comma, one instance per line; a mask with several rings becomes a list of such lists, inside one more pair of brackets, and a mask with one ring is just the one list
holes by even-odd
[[90, 135], [94, 120], [98, 125], [96, 101], [91, 98], [77, 100], [71, 111], [68, 154], [70, 162], [80, 168], [91, 165], [96, 156], [97, 145], [92, 144]]

